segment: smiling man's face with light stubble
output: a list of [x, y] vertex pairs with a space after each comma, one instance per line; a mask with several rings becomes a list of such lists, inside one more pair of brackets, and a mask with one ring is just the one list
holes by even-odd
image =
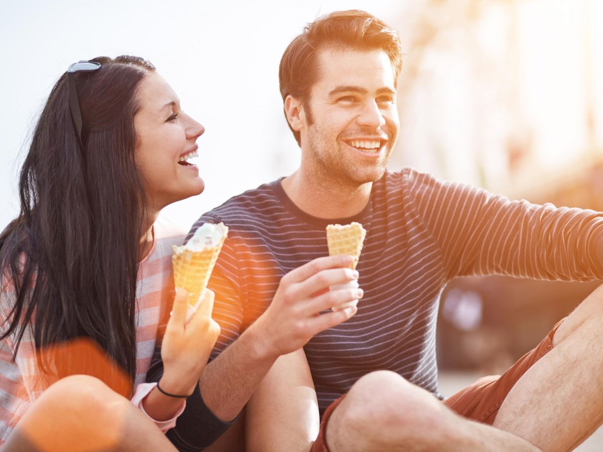
[[303, 165], [344, 184], [379, 180], [399, 130], [390, 59], [378, 50], [324, 49], [318, 69], [300, 130]]

